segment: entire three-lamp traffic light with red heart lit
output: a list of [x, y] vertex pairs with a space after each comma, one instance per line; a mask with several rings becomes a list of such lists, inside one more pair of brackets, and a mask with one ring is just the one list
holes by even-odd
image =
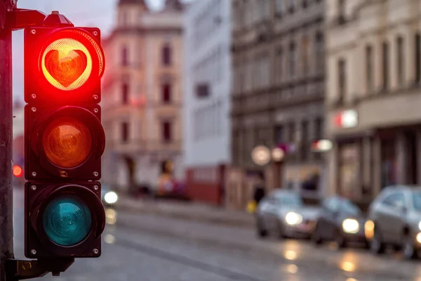
[[100, 30], [27, 27], [24, 40], [25, 256], [98, 257], [105, 227]]

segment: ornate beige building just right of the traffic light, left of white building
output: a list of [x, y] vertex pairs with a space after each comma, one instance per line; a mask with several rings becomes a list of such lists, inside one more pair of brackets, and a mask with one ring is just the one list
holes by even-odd
[[103, 43], [102, 179], [116, 188], [155, 187], [164, 171], [183, 176], [182, 8], [167, 0], [152, 12], [145, 1], [120, 0]]

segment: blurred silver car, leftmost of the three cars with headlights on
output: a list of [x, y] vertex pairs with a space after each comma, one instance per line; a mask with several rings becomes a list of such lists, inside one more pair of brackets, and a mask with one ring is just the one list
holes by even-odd
[[275, 190], [263, 198], [255, 212], [259, 237], [311, 237], [319, 208], [308, 207], [297, 192]]

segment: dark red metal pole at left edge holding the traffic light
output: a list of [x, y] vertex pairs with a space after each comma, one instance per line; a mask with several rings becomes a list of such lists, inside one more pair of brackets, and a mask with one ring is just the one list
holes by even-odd
[[12, 141], [12, 30], [0, 27], [0, 261], [14, 258]]

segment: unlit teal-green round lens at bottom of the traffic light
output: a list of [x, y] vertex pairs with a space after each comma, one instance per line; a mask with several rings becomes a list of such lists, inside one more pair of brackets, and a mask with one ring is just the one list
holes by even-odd
[[49, 202], [42, 220], [48, 239], [61, 246], [83, 242], [92, 229], [88, 204], [74, 195], [62, 195]]

